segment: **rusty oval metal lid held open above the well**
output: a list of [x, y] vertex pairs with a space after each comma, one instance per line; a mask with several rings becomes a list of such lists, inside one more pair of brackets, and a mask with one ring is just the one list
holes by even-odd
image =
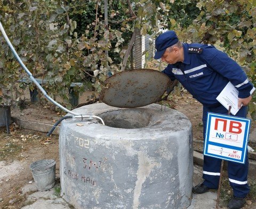
[[102, 102], [114, 107], [141, 107], [159, 101], [171, 79], [152, 69], [126, 70], [105, 81]]

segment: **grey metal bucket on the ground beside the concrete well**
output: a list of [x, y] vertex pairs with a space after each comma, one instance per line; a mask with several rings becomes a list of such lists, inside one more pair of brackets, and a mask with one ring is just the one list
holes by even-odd
[[30, 170], [36, 183], [36, 188], [40, 191], [51, 189], [55, 184], [55, 165], [53, 159], [40, 160], [31, 163]]

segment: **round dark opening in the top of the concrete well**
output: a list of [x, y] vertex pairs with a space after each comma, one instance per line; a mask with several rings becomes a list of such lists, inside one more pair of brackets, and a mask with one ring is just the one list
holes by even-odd
[[151, 119], [151, 115], [145, 110], [135, 108], [106, 112], [98, 116], [102, 118], [106, 126], [122, 129], [147, 127]]

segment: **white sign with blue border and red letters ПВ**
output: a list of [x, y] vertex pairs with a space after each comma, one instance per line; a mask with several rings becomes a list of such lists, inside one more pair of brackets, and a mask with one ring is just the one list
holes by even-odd
[[250, 119], [207, 114], [204, 155], [245, 163]]

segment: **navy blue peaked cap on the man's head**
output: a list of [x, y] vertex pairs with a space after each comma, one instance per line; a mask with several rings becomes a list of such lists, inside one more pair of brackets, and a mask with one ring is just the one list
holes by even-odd
[[155, 41], [156, 53], [154, 58], [156, 60], [161, 58], [166, 48], [176, 44], [178, 41], [179, 39], [173, 30], [166, 31], [163, 34], [159, 35]]

